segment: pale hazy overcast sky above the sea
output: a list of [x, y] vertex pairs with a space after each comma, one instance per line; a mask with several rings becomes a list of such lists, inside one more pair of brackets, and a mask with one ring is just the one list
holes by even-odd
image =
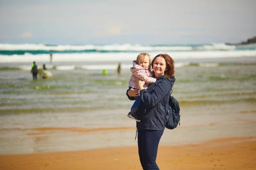
[[0, 43], [200, 44], [256, 36], [256, 0], [0, 0]]

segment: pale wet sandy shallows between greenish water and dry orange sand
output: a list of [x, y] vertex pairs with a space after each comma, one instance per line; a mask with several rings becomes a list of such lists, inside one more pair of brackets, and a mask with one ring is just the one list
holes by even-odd
[[[239, 108], [234, 107], [233, 104], [183, 106], [180, 126], [176, 130], [165, 130], [160, 144], [166, 146], [200, 144], [217, 138], [255, 136], [255, 105], [240, 103], [236, 106]], [[198, 112], [198, 109], [204, 111], [204, 114]], [[0, 129], [0, 155], [136, 147], [135, 121], [128, 119], [126, 114], [120, 113], [125, 113], [125, 109], [111, 112], [111, 119], [105, 119], [104, 116], [108, 115], [107, 111], [95, 111], [90, 114], [7, 116], [3, 122], [5, 128]], [[88, 115], [100, 115], [104, 123], [99, 120], [90, 124], [92, 119]], [[28, 116], [33, 122], [25, 124]], [[41, 117], [47, 119], [38, 119]], [[14, 119], [24, 122], [23, 128], [21, 126], [10, 128], [9, 125], [12, 125], [10, 121]], [[113, 122], [113, 119], [116, 121]], [[52, 121], [47, 122], [47, 120]], [[58, 120], [61, 120], [61, 123]]]

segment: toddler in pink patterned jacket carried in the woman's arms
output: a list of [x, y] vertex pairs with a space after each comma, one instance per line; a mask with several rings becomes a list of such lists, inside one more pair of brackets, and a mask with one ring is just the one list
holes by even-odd
[[[147, 53], [140, 53], [137, 59], [133, 61], [133, 67], [131, 70], [131, 79], [129, 81], [129, 89], [137, 88], [134, 82], [135, 77], [145, 81], [143, 88], [148, 88], [149, 84], [156, 82], [157, 79], [152, 77], [152, 72], [150, 71], [150, 56]], [[135, 97], [135, 102], [131, 106], [131, 111], [128, 113], [128, 117], [140, 122], [140, 118], [137, 115], [137, 110], [140, 107], [141, 99], [140, 96]]]

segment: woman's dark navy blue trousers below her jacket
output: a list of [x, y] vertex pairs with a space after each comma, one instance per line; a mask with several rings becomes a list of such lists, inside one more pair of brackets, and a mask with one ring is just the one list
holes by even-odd
[[156, 159], [163, 130], [138, 130], [138, 150], [143, 170], [159, 170]]

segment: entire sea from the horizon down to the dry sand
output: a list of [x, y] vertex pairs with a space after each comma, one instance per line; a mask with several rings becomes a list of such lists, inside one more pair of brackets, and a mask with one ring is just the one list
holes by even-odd
[[[256, 135], [256, 45], [0, 44], [0, 154], [136, 145], [125, 92], [140, 52], [175, 60], [181, 128], [163, 144]], [[33, 61], [53, 76], [32, 81]]]

